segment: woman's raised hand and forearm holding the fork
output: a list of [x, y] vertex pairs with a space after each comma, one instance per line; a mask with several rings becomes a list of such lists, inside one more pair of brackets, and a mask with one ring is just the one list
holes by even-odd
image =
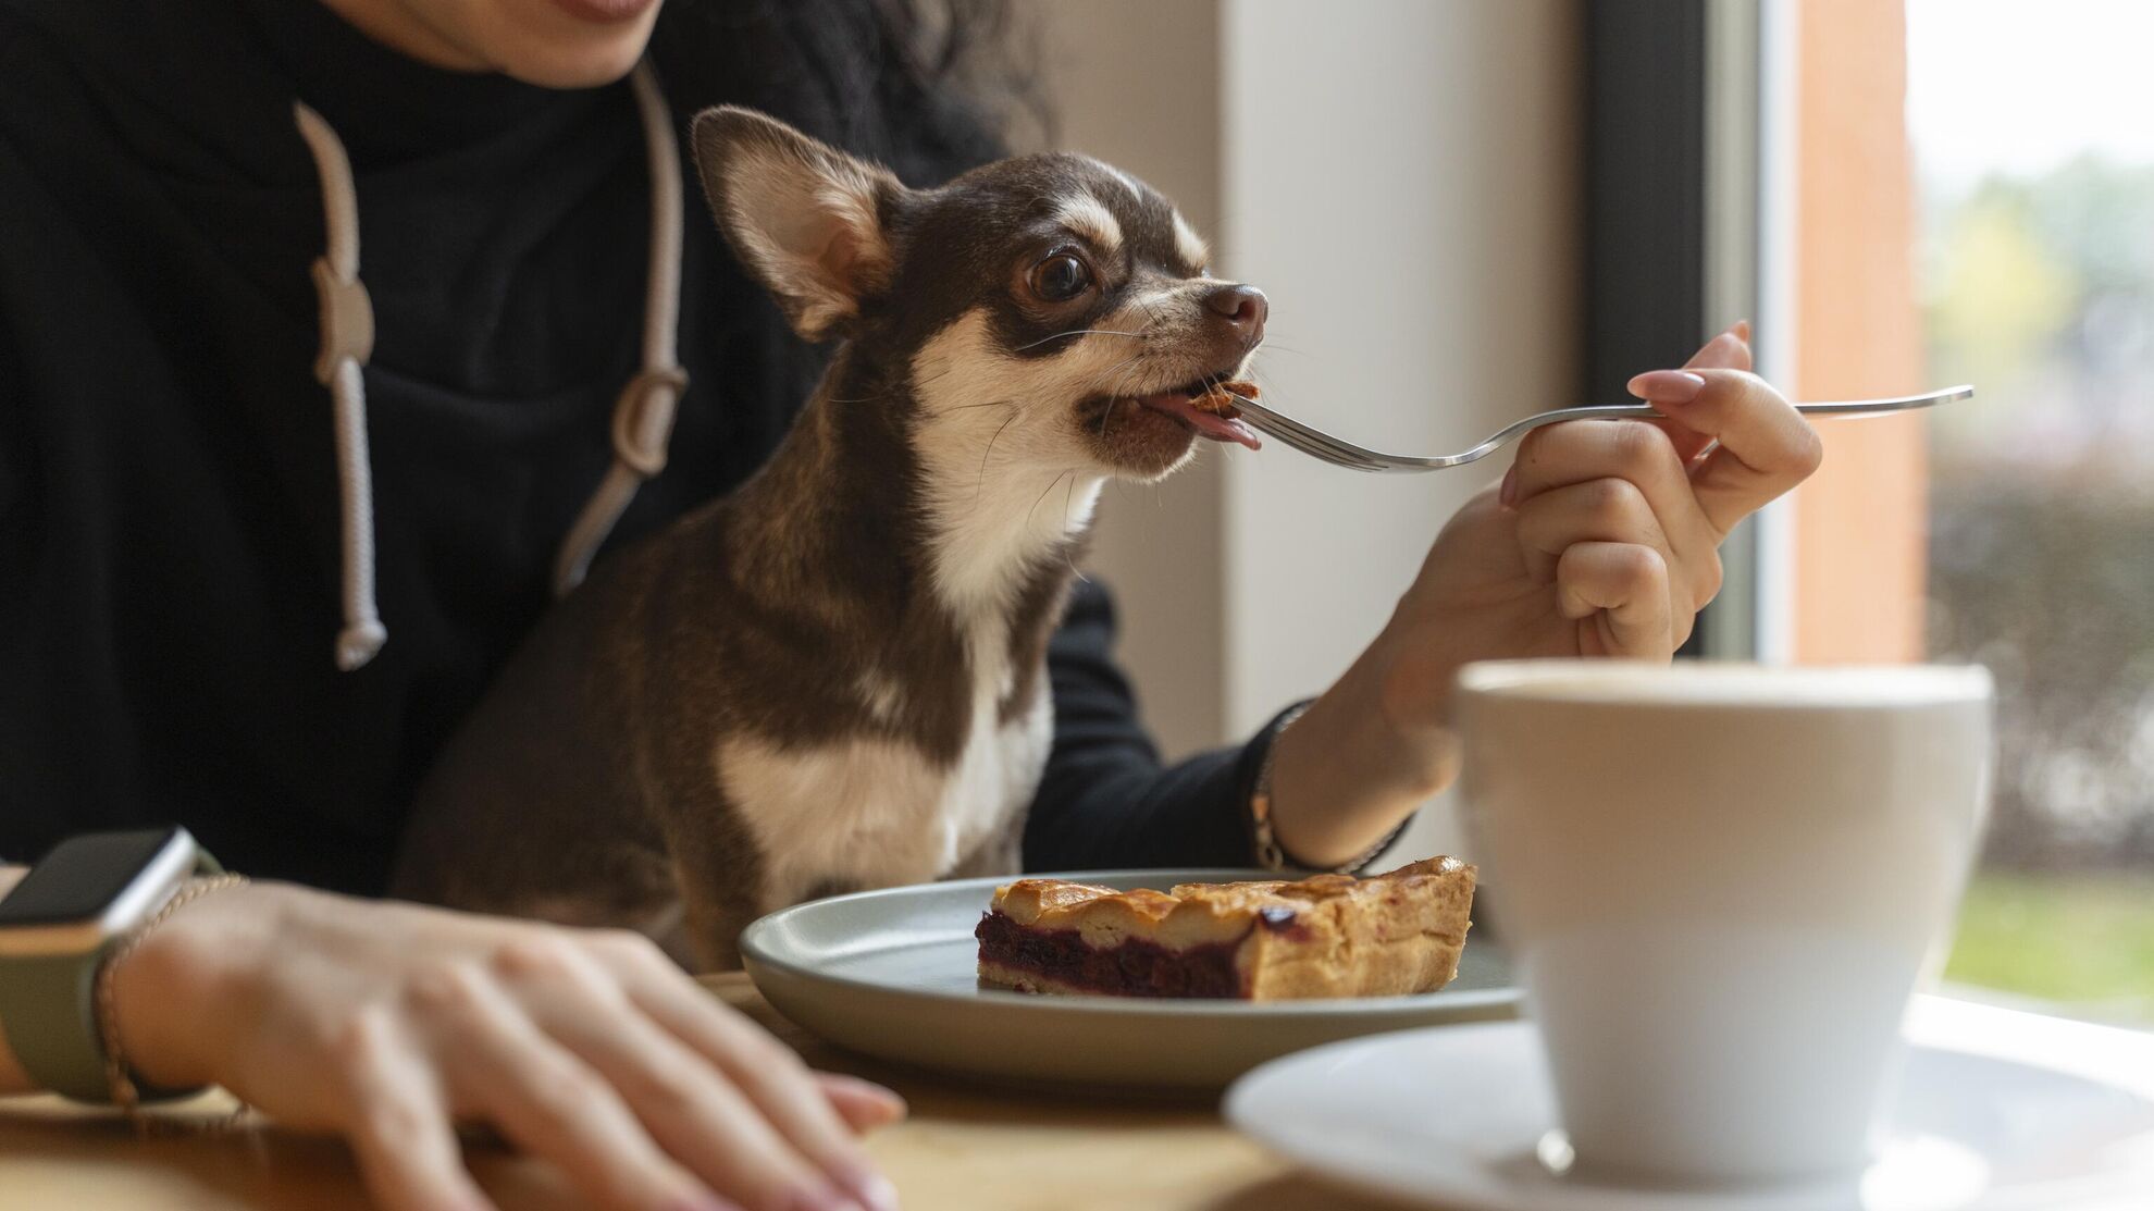
[[1721, 588], [1728, 530], [1822, 457], [1809, 422], [1749, 364], [1738, 323], [1682, 371], [1631, 379], [1669, 420], [1527, 433], [1503, 483], [1437, 537], [1383, 634], [1279, 735], [1273, 812], [1288, 853], [1346, 862], [1450, 784], [1458, 666], [1665, 662], [1682, 646]]

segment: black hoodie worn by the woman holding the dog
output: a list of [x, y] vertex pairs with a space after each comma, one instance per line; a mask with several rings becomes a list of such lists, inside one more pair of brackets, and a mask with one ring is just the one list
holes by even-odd
[[[719, 19], [661, 22], [661, 78], [668, 54], [707, 50], [683, 30], [784, 19], [700, 9]], [[388, 646], [355, 672], [332, 655], [323, 213], [295, 97], [351, 153], [379, 330], [364, 377]], [[844, 138], [816, 121], [842, 108], [827, 95], [694, 103], [719, 99]], [[963, 168], [941, 147], [877, 151]], [[747, 476], [816, 368], [700, 207], [687, 218], [691, 386], [672, 461], [610, 545]], [[411, 789], [545, 610], [607, 465], [648, 228], [625, 82], [437, 71], [312, 0], [0, 0], [0, 853], [177, 821], [233, 868], [377, 892]], [[1051, 651], [1027, 866], [1245, 864], [1260, 746], [1161, 769], [1111, 640], [1105, 595], [1081, 588]]]

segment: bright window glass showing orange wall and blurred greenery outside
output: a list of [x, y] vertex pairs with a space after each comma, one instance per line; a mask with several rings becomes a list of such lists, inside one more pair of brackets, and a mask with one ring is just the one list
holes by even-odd
[[1799, 392], [1980, 396], [1829, 433], [1794, 509], [1794, 655], [1997, 674], [1947, 980], [2154, 1024], [2154, 9], [1796, 22]]

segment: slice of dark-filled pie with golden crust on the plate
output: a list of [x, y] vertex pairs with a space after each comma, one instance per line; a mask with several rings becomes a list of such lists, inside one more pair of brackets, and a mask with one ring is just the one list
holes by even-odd
[[1473, 866], [1180, 883], [1116, 892], [1062, 879], [995, 890], [980, 983], [1025, 993], [1301, 1000], [1441, 989], [1458, 974]]

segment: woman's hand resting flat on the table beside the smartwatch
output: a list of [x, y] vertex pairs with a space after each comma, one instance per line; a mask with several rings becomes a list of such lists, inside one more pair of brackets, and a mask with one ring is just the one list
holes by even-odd
[[905, 1103], [808, 1071], [631, 933], [256, 883], [172, 914], [112, 993], [144, 1077], [345, 1136], [392, 1211], [489, 1207], [457, 1123], [610, 1211], [896, 1207], [855, 1133]]

